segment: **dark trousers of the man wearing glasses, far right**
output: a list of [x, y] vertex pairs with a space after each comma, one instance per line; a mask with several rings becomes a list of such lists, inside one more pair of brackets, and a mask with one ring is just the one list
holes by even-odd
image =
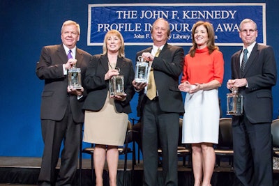
[[273, 185], [271, 123], [250, 123], [235, 116], [232, 123], [234, 171], [243, 185]]

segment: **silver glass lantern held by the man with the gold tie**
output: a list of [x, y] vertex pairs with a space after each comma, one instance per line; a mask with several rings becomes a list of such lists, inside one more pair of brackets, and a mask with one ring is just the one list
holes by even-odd
[[137, 83], [148, 83], [149, 79], [149, 63], [144, 61], [142, 56], [138, 57], [137, 64], [135, 65], [135, 82]]

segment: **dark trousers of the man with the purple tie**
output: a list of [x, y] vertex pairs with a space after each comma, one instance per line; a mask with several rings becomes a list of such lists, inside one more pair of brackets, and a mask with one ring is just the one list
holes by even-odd
[[[77, 170], [82, 123], [73, 121], [68, 107], [62, 121], [42, 120], [41, 126], [45, 147], [38, 185], [72, 185]], [[62, 141], [61, 166], [58, 178], [55, 178]]]

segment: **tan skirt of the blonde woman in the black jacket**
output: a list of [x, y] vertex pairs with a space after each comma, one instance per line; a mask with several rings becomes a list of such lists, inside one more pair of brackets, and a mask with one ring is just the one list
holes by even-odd
[[[98, 98], [96, 98], [98, 99]], [[128, 125], [128, 114], [115, 109], [114, 99], [107, 100], [100, 111], [85, 111], [83, 141], [91, 144], [123, 146]]]

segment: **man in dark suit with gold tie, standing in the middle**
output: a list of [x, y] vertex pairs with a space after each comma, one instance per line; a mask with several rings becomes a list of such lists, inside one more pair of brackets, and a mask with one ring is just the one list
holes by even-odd
[[[155, 84], [149, 82], [146, 86], [135, 80], [133, 82], [135, 89], [140, 92], [137, 115], [141, 116], [142, 122], [144, 185], [150, 186], [157, 185], [158, 142], [163, 151], [164, 185], [178, 184], [176, 153], [179, 116], [184, 112], [178, 85], [184, 52], [181, 47], [167, 44], [169, 34], [169, 23], [166, 20], [160, 18], [153, 23], [153, 47], [137, 52], [137, 57], [142, 56], [149, 61]], [[152, 98], [149, 96], [151, 86], [156, 87]]]

